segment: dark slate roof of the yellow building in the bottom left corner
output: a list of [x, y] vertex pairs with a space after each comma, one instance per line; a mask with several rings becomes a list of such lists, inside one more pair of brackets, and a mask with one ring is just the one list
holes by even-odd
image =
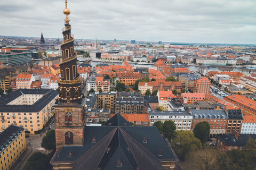
[[[2, 133], [0, 133], [0, 146], [6, 143], [6, 141], [10, 140], [10, 137], [15, 138], [15, 135], [18, 135], [20, 132], [22, 132], [24, 129], [20, 128], [15, 125], [9, 126], [6, 130], [4, 130]], [[7, 143], [8, 144], [8, 143]], [[1, 149], [0, 149], [1, 151]]]

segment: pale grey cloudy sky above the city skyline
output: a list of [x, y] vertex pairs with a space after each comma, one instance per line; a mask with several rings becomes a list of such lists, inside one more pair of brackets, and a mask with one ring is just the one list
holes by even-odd
[[[255, 0], [68, 0], [75, 38], [256, 44]], [[0, 35], [62, 37], [65, 0], [0, 0]]]

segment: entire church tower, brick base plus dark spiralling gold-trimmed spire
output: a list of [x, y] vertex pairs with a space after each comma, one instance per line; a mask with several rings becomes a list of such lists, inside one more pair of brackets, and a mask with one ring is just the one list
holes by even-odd
[[58, 80], [59, 99], [55, 103], [55, 135], [56, 150], [62, 146], [82, 146], [85, 122], [85, 98], [82, 95], [82, 80], [77, 73], [77, 53], [74, 50], [74, 36], [68, 15], [70, 10], [63, 10], [66, 15], [65, 28], [62, 29], [61, 42], [62, 63], [60, 64], [61, 78]]

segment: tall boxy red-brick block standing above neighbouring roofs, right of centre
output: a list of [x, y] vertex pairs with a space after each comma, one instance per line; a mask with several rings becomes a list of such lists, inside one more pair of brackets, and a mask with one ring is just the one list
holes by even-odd
[[210, 87], [211, 82], [207, 78], [198, 79], [195, 81], [193, 92], [198, 94], [204, 93], [205, 96], [208, 96], [210, 94]]

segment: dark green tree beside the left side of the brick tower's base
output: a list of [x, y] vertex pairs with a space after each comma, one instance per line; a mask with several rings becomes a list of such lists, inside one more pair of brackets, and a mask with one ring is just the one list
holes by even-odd
[[47, 150], [56, 149], [56, 140], [55, 140], [55, 130], [52, 129], [46, 133], [44, 138], [42, 139], [41, 146]]

